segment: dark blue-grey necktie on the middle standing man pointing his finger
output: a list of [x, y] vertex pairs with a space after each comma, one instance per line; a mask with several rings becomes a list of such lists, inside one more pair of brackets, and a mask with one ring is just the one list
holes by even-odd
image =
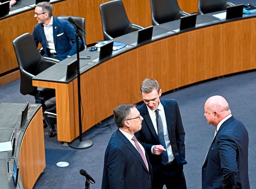
[[[163, 122], [159, 115], [158, 109], [155, 110], [155, 113], [156, 113], [156, 125], [157, 125], [157, 130], [158, 130], [158, 139], [159, 139], [160, 144], [166, 149], [165, 137], [163, 136]], [[162, 164], [166, 165], [168, 160], [169, 160], [169, 158], [168, 158], [167, 151], [162, 151]]]

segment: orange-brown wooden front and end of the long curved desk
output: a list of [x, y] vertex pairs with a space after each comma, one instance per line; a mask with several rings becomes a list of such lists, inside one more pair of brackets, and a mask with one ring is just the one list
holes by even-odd
[[[256, 18], [251, 17], [177, 33], [132, 48], [82, 73], [83, 132], [111, 116], [117, 105], [140, 102], [140, 84], [146, 77], [157, 79], [166, 92], [255, 69], [255, 28]], [[36, 76], [33, 85], [56, 90], [58, 140], [71, 142], [79, 135], [77, 79], [51, 82], [42, 79], [45, 74], [49, 75]]]

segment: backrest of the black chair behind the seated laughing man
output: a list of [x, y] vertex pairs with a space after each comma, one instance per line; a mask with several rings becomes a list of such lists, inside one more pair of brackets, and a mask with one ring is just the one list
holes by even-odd
[[[79, 25], [85, 31], [85, 19], [82, 18], [82, 17], [77, 17], [77, 16], [58, 16], [57, 18], [68, 20], [69, 17], [73, 18], [75, 23], [77, 25]], [[72, 26], [75, 29], [75, 25], [73, 23], [70, 23], [70, 24], [72, 24]], [[82, 40], [82, 46], [80, 47], [79, 51], [86, 49], [86, 42], [85, 42], [85, 36], [84, 35], [85, 35], [85, 33], [79, 32], [79, 37]]]

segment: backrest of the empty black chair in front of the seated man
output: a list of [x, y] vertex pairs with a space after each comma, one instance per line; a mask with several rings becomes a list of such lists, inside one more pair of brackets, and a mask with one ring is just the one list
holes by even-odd
[[37, 87], [32, 86], [32, 78], [28, 77], [24, 71], [37, 75], [42, 56], [38, 52], [30, 33], [25, 33], [14, 39], [13, 47], [20, 71], [20, 93], [24, 95], [33, 93], [33, 91], [37, 90]]

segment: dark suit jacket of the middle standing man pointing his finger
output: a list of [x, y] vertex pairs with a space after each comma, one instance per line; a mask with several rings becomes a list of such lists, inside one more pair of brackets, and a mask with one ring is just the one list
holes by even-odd
[[[160, 100], [165, 110], [167, 130], [172, 146], [172, 152], [179, 164], [187, 164], [185, 160], [185, 131], [182, 125], [180, 110], [177, 102], [174, 99]], [[146, 104], [138, 107], [140, 115], [144, 118], [142, 128], [135, 135], [140, 140], [147, 151], [150, 163], [153, 166], [161, 166], [161, 155], [153, 155], [151, 148], [153, 145], [159, 145], [158, 136], [153, 126], [152, 120], [147, 110]]]

